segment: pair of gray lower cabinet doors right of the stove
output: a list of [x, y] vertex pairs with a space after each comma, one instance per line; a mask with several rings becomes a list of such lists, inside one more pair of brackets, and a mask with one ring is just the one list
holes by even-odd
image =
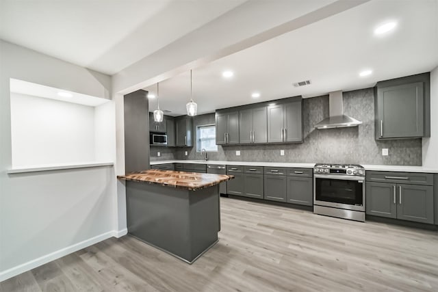
[[433, 186], [368, 181], [365, 208], [368, 215], [433, 224]]

